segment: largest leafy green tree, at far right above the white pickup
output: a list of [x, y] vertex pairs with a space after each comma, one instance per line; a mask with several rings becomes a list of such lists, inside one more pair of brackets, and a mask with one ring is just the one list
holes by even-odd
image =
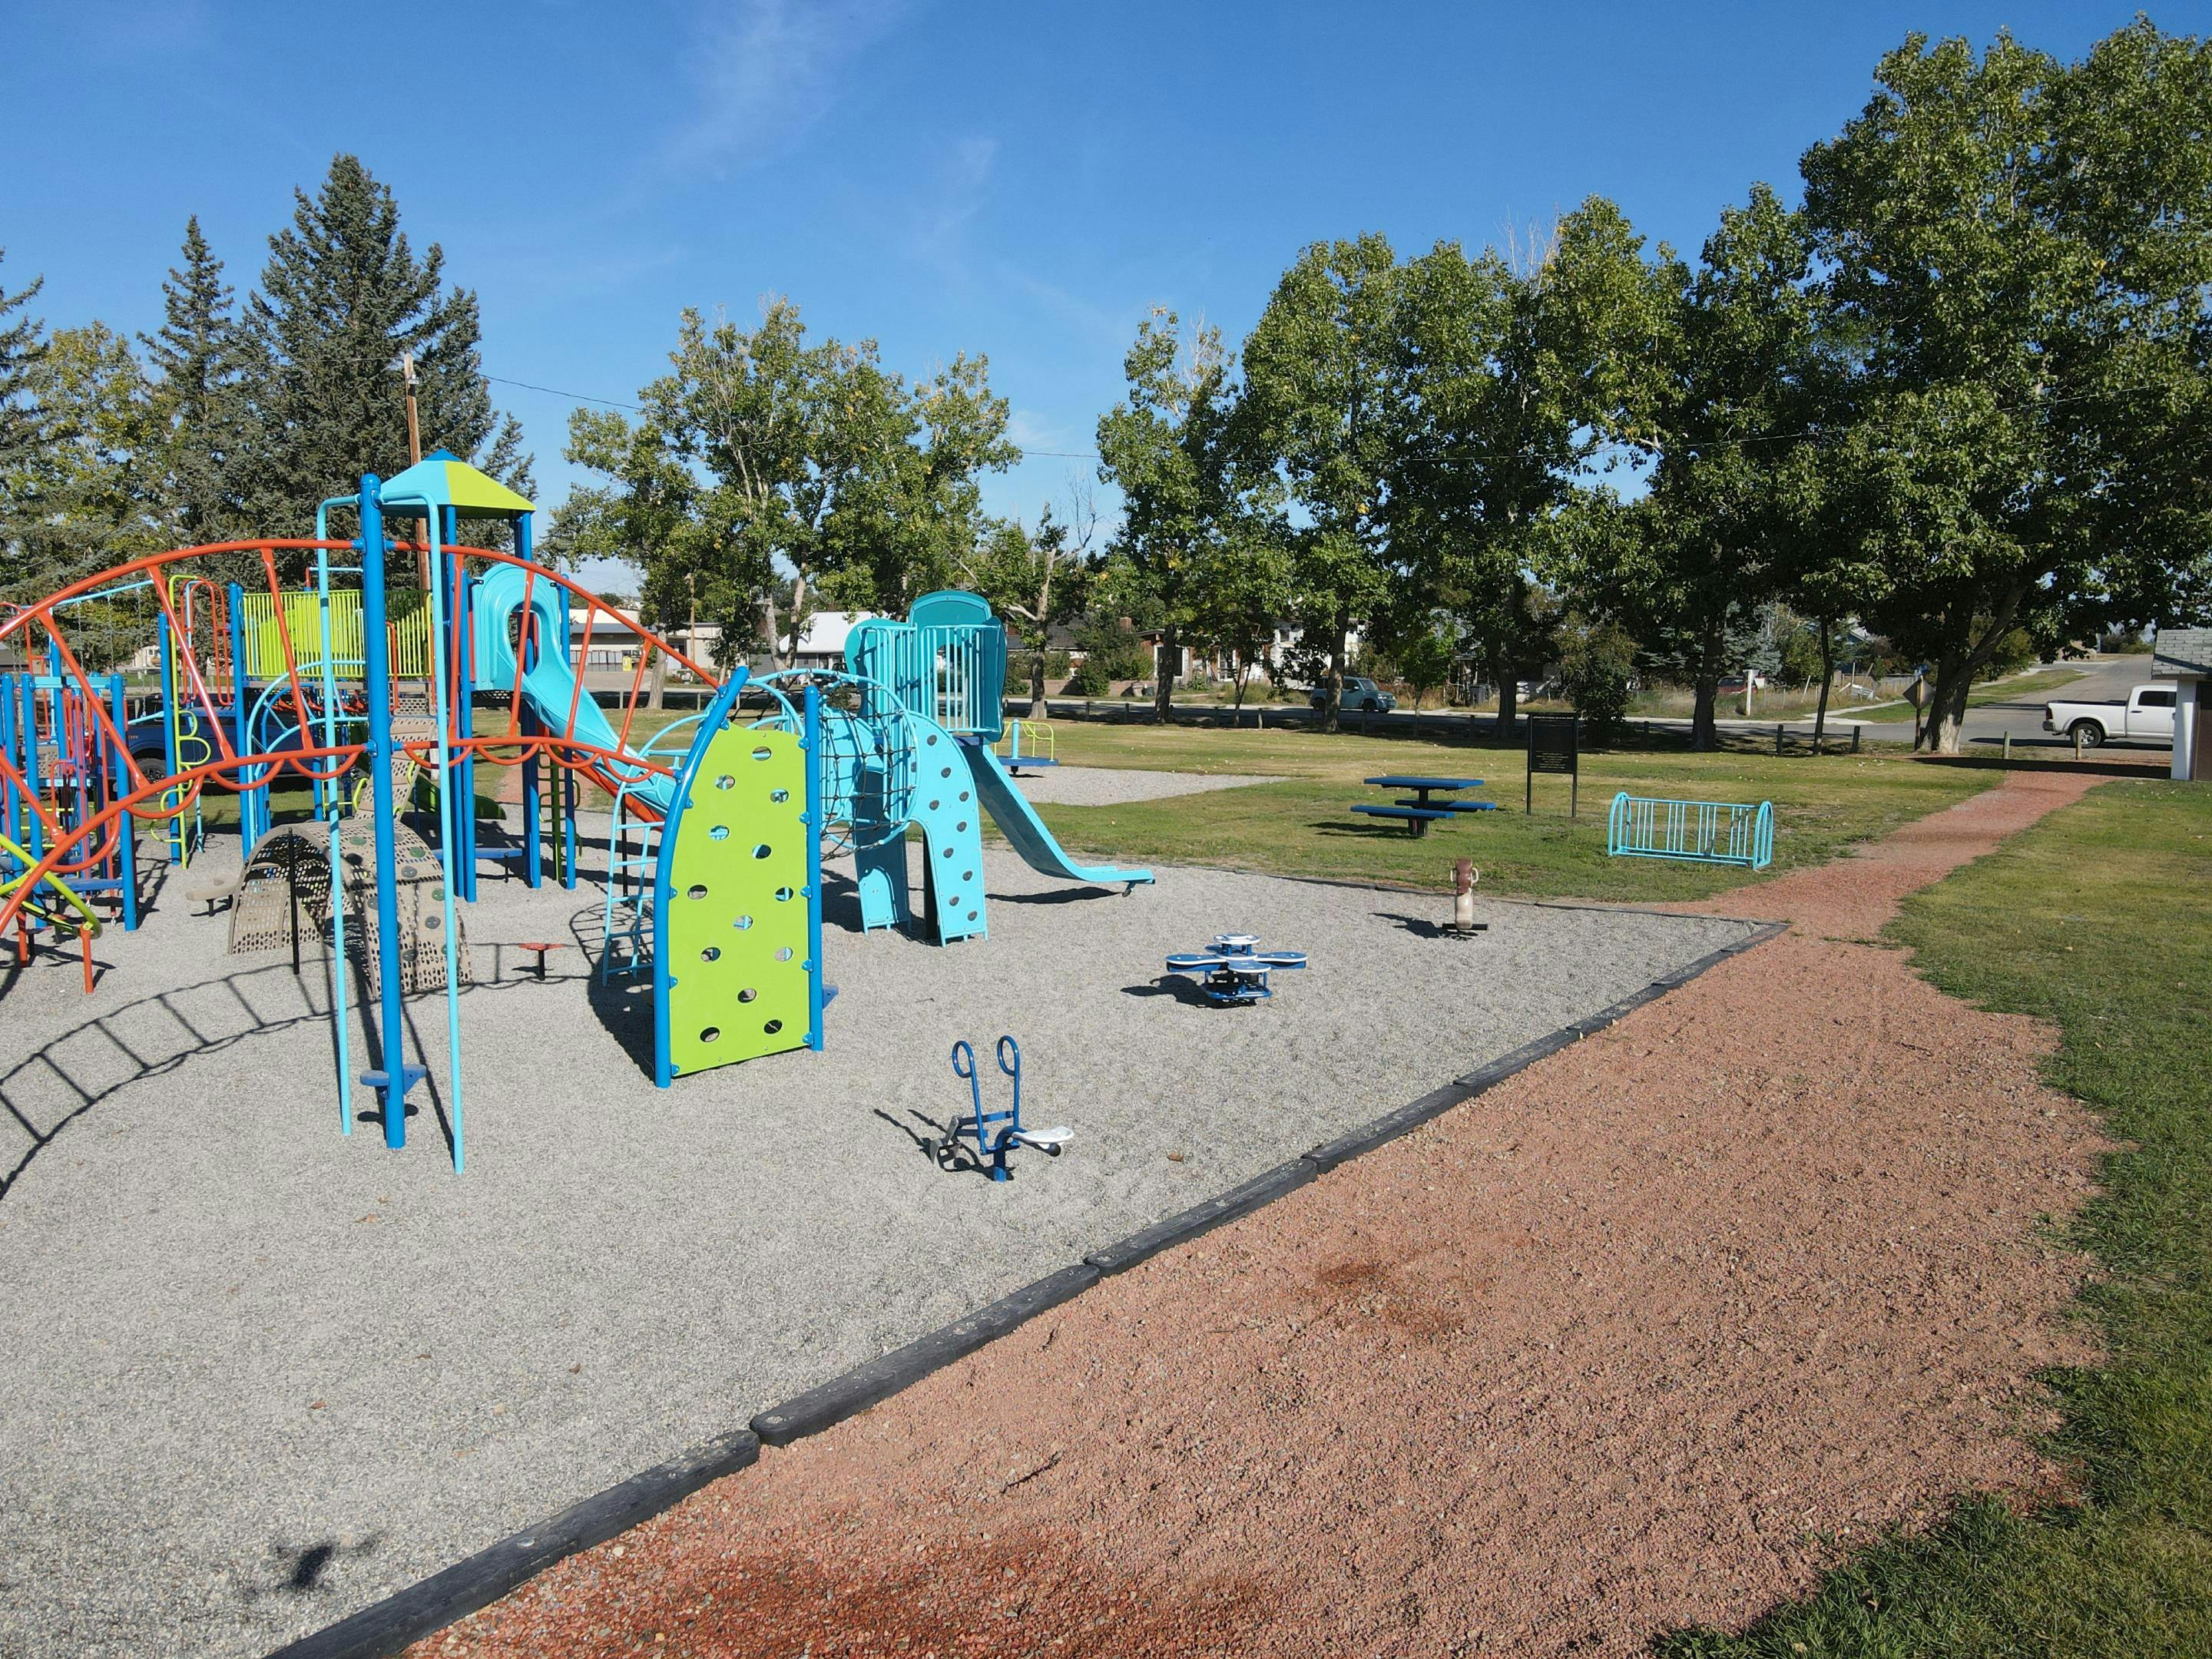
[[2212, 44], [2150, 22], [2079, 64], [1907, 38], [1803, 161], [1840, 319], [1865, 338], [1843, 493], [1933, 670], [1955, 752], [1975, 675], [2212, 588]]

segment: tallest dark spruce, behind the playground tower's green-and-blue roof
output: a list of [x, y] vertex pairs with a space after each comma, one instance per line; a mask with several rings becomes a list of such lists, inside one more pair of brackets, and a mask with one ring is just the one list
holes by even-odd
[[522, 427], [491, 407], [478, 358], [476, 294], [445, 285], [438, 243], [416, 259], [389, 186], [338, 155], [292, 228], [270, 237], [261, 290], [246, 303], [248, 509], [263, 533], [299, 535], [314, 504], [361, 473], [407, 467], [414, 354], [422, 451], [449, 449], [531, 493]]

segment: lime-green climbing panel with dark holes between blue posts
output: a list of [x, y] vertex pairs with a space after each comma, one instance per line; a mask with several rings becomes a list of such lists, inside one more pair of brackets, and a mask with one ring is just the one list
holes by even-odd
[[805, 1046], [805, 810], [796, 732], [723, 726], [708, 739], [664, 854], [670, 1075]]

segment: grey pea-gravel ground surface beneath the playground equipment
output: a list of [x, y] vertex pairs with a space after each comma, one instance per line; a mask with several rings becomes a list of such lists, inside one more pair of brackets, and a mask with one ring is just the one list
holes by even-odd
[[[849, 931], [847, 878], [830, 1051], [672, 1091], [650, 998], [591, 973], [597, 887], [487, 880], [467, 1181], [442, 1079], [405, 1152], [334, 1133], [327, 956], [223, 956], [181, 876], [91, 998], [20, 973], [0, 1650], [261, 1655], [1743, 936], [1486, 900], [1469, 949], [1442, 898], [1208, 869], [1071, 905], [989, 852], [989, 949], [947, 956]], [[1243, 1011], [1164, 982], [1230, 927], [1312, 969]], [[540, 982], [520, 940], [575, 949]], [[995, 1186], [918, 1141], [1002, 1031], [1077, 1137]]]

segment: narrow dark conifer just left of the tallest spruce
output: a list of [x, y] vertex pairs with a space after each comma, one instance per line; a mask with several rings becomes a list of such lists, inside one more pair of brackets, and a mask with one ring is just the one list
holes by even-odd
[[246, 361], [223, 281], [223, 261], [184, 223], [184, 268], [161, 283], [164, 323], [142, 334], [159, 372], [155, 414], [164, 427], [161, 509], [186, 542], [221, 542], [250, 524], [239, 500], [241, 385]]

